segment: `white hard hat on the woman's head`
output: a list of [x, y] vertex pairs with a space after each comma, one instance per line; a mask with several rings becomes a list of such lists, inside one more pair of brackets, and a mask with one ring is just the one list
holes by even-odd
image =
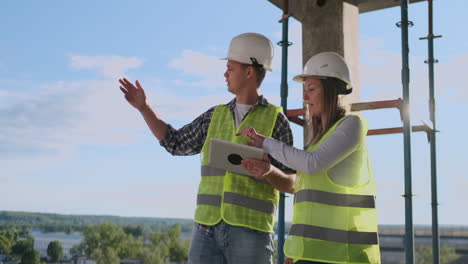
[[333, 77], [345, 82], [345, 94], [351, 92], [353, 85], [349, 77], [348, 65], [343, 57], [334, 52], [321, 52], [312, 56], [304, 66], [302, 74], [294, 76], [293, 80], [303, 83], [307, 77]]

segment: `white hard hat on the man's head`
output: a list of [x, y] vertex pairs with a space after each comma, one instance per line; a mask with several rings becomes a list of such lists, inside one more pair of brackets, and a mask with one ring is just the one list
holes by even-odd
[[223, 60], [260, 65], [267, 71], [273, 71], [271, 69], [273, 44], [267, 37], [258, 33], [240, 34], [231, 40], [228, 56]]

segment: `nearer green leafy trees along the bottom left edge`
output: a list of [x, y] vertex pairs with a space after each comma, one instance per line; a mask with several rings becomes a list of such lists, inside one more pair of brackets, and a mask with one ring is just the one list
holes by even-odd
[[[190, 240], [180, 239], [181, 226], [176, 224], [166, 232], [145, 233], [140, 226], [117, 226], [104, 222], [89, 225], [83, 231], [82, 242], [70, 250], [71, 256], [85, 256], [97, 264], [119, 264], [126, 258], [139, 259], [142, 264], [185, 263]], [[40, 264], [39, 252], [34, 250], [34, 237], [21, 237], [15, 229], [0, 231], [0, 254], [22, 264]], [[60, 241], [47, 248], [48, 262], [64, 256]]]

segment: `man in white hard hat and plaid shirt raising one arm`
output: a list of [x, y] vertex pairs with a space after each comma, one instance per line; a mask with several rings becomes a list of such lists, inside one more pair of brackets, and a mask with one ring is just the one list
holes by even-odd
[[140, 111], [161, 146], [172, 155], [201, 154], [202, 177], [189, 263], [273, 263], [273, 226], [279, 200], [273, 185], [291, 181], [284, 175], [294, 171], [271, 159], [274, 166], [260, 180], [208, 165], [210, 139], [245, 144], [248, 138], [236, 133], [246, 126], [292, 145], [286, 116], [259, 91], [266, 71], [272, 71], [272, 59], [273, 45], [265, 36], [244, 33], [234, 37], [224, 58], [224, 77], [235, 98], [208, 109], [178, 130], [161, 120], [146, 103], [138, 81], [119, 80], [125, 98]]

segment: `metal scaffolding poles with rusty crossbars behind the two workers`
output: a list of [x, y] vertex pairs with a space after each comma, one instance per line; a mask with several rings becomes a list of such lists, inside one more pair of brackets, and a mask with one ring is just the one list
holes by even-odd
[[[432, 0], [427, 0], [428, 8], [428, 35], [420, 39], [428, 40], [428, 56], [425, 61], [429, 65], [429, 113], [432, 124], [422, 124], [412, 126], [410, 121], [410, 98], [409, 98], [409, 45], [408, 45], [408, 28], [413, 25], [413, 22], [408, 20], [408, 2], [409, 0], [401, 0], [401, 21], [396, 25], [401, 28], [401, 45], [402, 45], [402, 88], [403, 98], [386, 101], [362, 102], [351, 104], [351, 111], [377, 110], [386, 108], [396, 108], [400, 112], [402, 127], [391, 127], [381, 129], [371, 129], [368, 135], [386, 135], [394, 133], [403, 133], [403, 152], [404, 152], [404, 180], [405, 191], [402, 195], [405, 198], [405, 258], [406, 263], [414, 263], [414, 224], [413, 224], [413, 201], [412, 201], [412, 174], [411, 174], [411, 132], [426, 132], [430, 143], [431, 156], [431, 206], [432, 206], [432, 256], [433, 263], [440, 263], [439, 256], [439, 224], [438, 224], [438, 202], [437, 202], [437, 170], [436, 170], [436, 122], [435, 122], [435, 96], [434, 96], [434, 47], [433, 40], [441, 36], [433, 34], [433, 15], [432, 15]], [[300, 126], [305, 125], [305, 119], [300, 116], [305, 116], [304, 109], [287, 109], [287, 52], [288, 46], [291, 43], [288, 41], [288, 0], [283, 1], [282, 23], [282, 41], [278, 45], [282, 46], [282, 69], [281, 69], [281, 106], [283, 107], [289, 120]], [[278, 215], [278, 264], [283, 263], [283, 245], [284, 245], [284, 193], [280, 196], [279, 215]]]

